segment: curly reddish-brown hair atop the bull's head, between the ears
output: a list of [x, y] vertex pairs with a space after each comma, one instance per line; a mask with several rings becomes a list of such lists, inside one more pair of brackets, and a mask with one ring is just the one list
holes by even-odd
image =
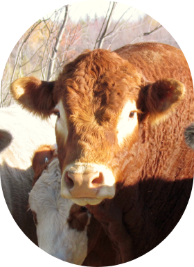
[[55, 84], [54, 99], [58, 102], [62, 95], [71, 92], [85, 97], [103, 97], [106, 104], [112, 95], [122, 99], [129, 94], [136, 99], [141, 83], [141, 74], [116, 53], [104, 49], [86, 50], [64, 66]]

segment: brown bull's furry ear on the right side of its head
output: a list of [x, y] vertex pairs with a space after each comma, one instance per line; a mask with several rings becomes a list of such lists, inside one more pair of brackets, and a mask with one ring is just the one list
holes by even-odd
[[152, 124], [166, 120], [184, 99], [184, 85], [175, 79], [162, 79], [141, 88], [137, 107]]

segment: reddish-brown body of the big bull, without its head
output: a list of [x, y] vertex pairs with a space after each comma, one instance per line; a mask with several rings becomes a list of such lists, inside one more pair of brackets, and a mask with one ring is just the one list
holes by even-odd
[[[194, 90], [186, 58], [174, 47], [140, 43], [117, 49], [116, 53], [148, 81], [170, 77], [186, 87], [184, 101], [170, 118], [154, 127], [148, 120], [140, 125], [133, 151], [135, 161], [127, 164], [129, 156], [120, 154], [125, 183], [117, 185], [114, 199], [97, 206], [87, 205], [116, 245], [120, 254], [116, 264], [122, 264], [159, 245], [186, 209], [193, 186], [194, 154], [184, 143], [184, 127], [194, 119]], [[116, 209], [120, 216], [114, 215]], [[128, 245], [125, 238], [131, 241]]]

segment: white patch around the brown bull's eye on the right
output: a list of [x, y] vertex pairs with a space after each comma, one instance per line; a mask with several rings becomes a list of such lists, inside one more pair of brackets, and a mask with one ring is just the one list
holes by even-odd
[[123, 111], [121, 112], [120, 117], [118, 118], [117, 124], [117, 138], [118, 145], [123, 144], [123, 140], [132, 134], [134, 128], [138, 124], [137, 113], [134, 112], [134, 117], [130, 118], [130, 112], [136, 111], [136, 103], [135, 102], [127, 102], [125, 104]]

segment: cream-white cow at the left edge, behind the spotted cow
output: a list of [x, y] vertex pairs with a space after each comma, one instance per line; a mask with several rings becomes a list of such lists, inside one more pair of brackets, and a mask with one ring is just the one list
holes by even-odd
[[44, 121], [19, 106], [0, 108], [0, 180], [3, 197], [21, 231], [37, 245], [33, 215], [26, 212], [32, 188], [31, 159], [42, 143], [55, 143], [55, 117]]

